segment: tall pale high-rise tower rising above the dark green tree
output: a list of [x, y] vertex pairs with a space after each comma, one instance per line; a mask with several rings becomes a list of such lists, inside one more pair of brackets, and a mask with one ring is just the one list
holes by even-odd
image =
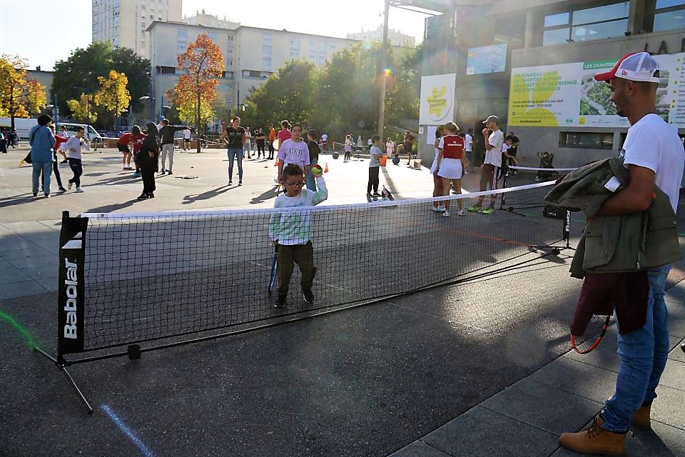
[[146, 29], [153, 21], [181, 21], [182, 0], [92, 0], [93, 41], [133, 49], [150, 58]]

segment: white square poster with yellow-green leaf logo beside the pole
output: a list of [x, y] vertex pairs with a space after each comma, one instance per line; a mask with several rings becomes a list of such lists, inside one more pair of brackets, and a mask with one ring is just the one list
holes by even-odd
[[455, 116], [455, 83], [457, 74], [421, 77], [419, 124], [439, 126]]

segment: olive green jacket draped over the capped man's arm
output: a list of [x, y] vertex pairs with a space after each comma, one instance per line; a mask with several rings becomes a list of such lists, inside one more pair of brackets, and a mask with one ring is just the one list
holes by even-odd
[[544, 197], [549, 204], [592, 218], [578, 243], [571, 276], [643, 271], [681, 260], [676, 215], [658, 187], [646, 211], [597, 216], [606, 199], [628, 186], [629, 178], [623, 159], [612, 157], [572, 171]]

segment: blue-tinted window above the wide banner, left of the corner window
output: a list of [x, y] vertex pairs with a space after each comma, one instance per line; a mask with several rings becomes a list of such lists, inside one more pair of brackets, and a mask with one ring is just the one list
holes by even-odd
[[629, 7], [629, 1], [621, 1], [549, 14], [544, 17], [542, 46], [624, 36], [628, 29]]

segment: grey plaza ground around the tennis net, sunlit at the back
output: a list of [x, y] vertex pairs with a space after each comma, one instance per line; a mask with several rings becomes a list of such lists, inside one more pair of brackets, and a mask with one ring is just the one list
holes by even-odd
[[[53, 184], [50, 199], [34, 199], [31, 167], [18, 167], [26, 152], [0, 156], [0, 456], [567, 457], [574, 454], [559, 449], [559, 433], [585, 426], [613, 391], [615, 327], [597, 351], [569, 352], [582, 281], [569, 278], [562, 253], [547, 264], [139, 361], [73, 366], [96, 410], [88, 415], [59, 370], [31, 351], [35, 343], [56, 353], [62, 211], [269, 208], [275, 167], [245, 160], [245, 185], [229, 187], [224, 150], [177, 150], [174, 174], [157, 180], [157, 198], [138, 201], [140, 179], [105, 149], [84, 156], [82, 194], [59, 194]], [[329, 168], [325, 204], [367, 201], [367, 160], [323, 155], [320, 163]], [[60, 169], [66, 181], [71, 171]], [[406, 161], [380, 176], [398, 199], [432, 194], [427, 169]], [[478, 177], [466, 176], [467, 191], [477, 191]], [[683, 195], [679, 210], [682, 227]], [[681, 263], [669, 276], [673, 350], [654, 431], [629, 433], [627, 456], [685, 456], [684, 276]]]

